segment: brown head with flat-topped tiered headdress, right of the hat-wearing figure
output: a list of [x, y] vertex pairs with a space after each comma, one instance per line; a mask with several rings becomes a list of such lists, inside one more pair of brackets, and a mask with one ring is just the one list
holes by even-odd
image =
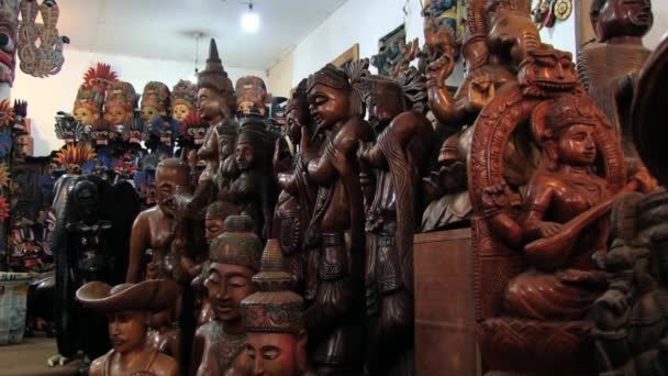
[[211, 243], [209, 273], [204, 286], [215, 318], [241, 322], [241, 303], [255, 292], [253, 275], [259, 270], [263, 244], [246, 215], [230, 215], [225, 232]]

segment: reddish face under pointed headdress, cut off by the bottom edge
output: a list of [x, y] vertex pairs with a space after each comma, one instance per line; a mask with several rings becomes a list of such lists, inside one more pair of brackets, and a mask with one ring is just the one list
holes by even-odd
[[303, 341], [285, 333], [247, 333], [246, 353], [253, 362], [253, 375], [296, 376], [303, 368]]

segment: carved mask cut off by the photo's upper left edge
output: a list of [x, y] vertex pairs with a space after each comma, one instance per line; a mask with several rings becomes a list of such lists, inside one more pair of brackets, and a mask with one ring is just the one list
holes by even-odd
[[14, 84], [16, 68], [16, 31], [19, 29], [19, 1], [0, 3], [0, 82]]

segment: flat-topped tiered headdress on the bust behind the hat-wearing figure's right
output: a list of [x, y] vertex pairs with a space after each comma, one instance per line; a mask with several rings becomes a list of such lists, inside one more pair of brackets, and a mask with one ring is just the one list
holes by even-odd
[[209, 261], [258, 270], [263, 243], [254, 232], [253, 220], [247, 215], [225, 219], [225, 232], [213, 240]]

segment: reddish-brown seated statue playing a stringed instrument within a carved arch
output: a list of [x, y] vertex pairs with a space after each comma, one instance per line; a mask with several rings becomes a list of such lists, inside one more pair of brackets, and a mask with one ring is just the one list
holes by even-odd
[[[519, 79], [480, 113], [468, 164], [482, 362], [490, 371], [591, 372], [587, 318], [606, 286], [597, 263], [605, 213], [649, 179], [626, 183], [619, 140], [582, 93], [569, 53], [530, 52]], [[517, 187], [504, 177], [504, 144], [526, 122], [541, 161]]]

